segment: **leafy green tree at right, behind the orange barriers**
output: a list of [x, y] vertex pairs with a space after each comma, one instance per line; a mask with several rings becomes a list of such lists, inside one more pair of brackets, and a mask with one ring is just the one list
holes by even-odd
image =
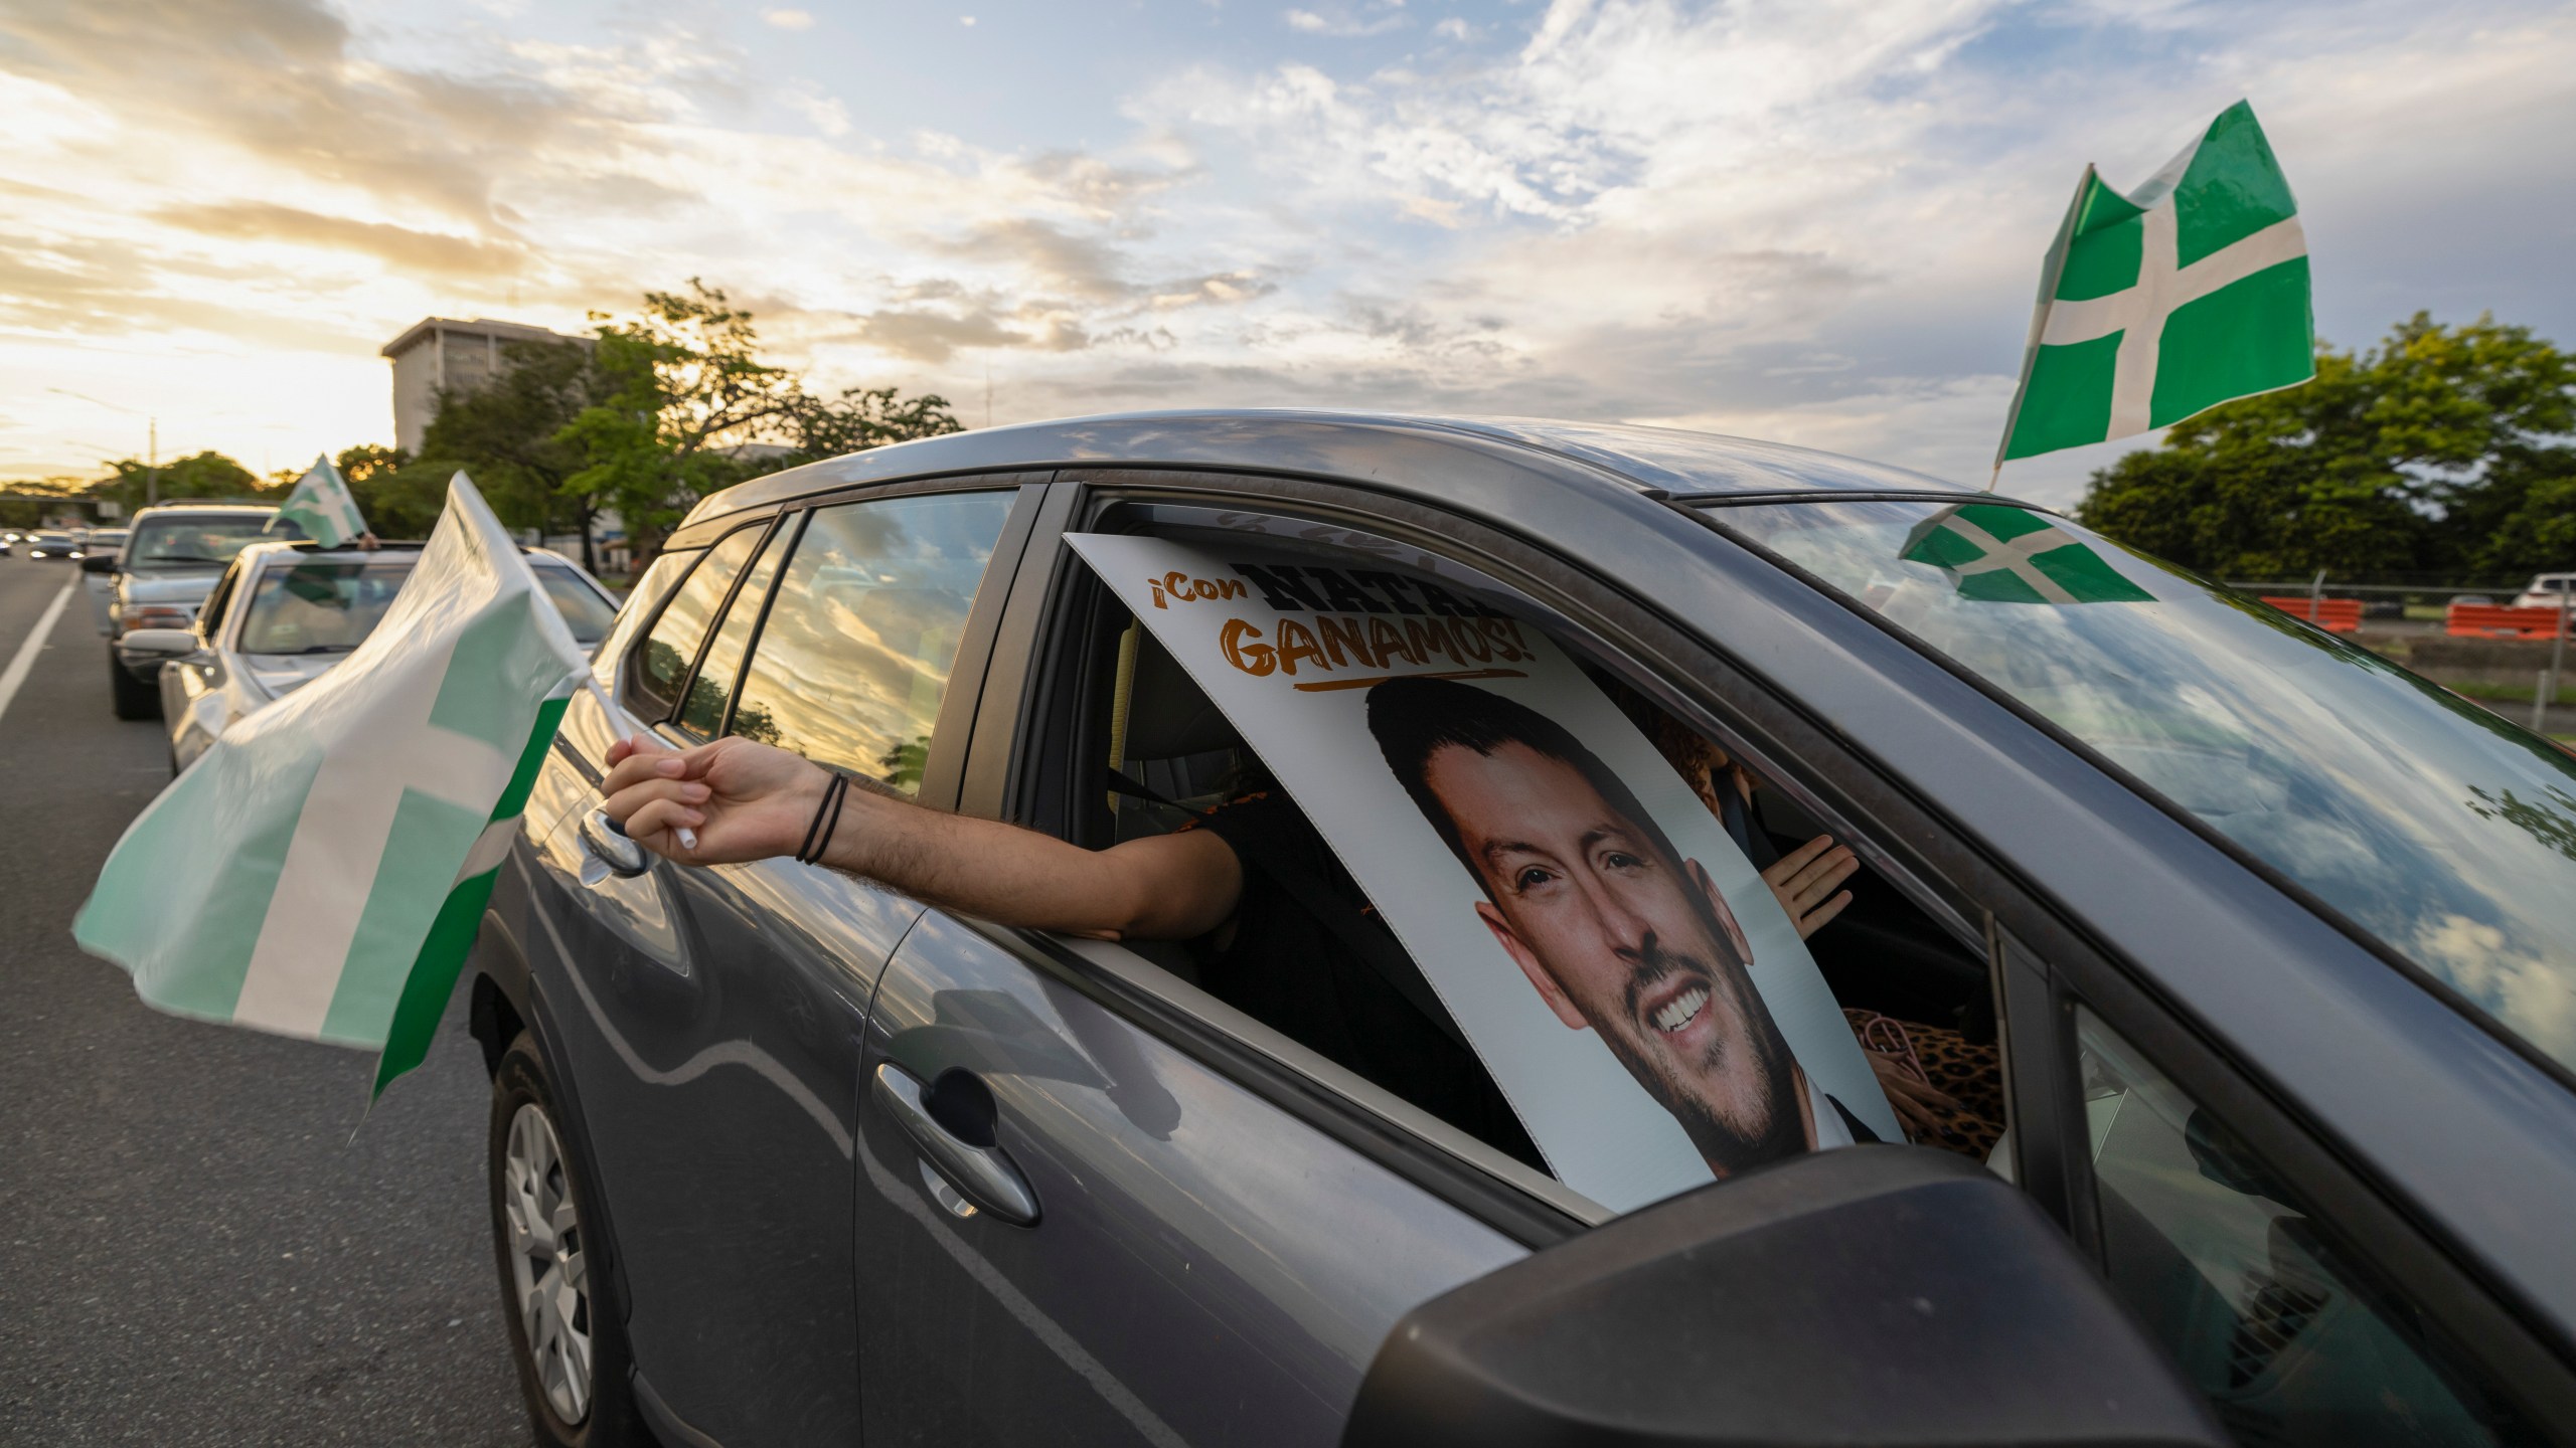
[[2094, 472], [2076, 518], [2221, 577], [2509, 575], [2576, 551], [2576, 358], [2419, 312], [2316, 381], [2177, 423]]

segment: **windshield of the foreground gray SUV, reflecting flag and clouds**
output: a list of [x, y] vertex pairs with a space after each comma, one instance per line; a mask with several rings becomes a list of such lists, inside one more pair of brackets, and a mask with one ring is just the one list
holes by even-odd
[[2576, 755], [2045, 513], [1710, 518], [2092, 745], [2576, 1067]]

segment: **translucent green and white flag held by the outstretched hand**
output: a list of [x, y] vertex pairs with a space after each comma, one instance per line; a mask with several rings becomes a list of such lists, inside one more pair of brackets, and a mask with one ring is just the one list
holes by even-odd
[[572, 691], [544, 585], [464, 474], [384, 621], [126, 830], [72, 922], [178, 1015], [420, 1064]]

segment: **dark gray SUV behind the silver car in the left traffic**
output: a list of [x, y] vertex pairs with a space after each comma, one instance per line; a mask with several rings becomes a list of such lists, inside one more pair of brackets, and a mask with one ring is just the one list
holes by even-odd
[[80, 559], [80, 572], [113, 575], [108, 598], [108, 691], [118, 719], [160, 716], [160, 667], [167, 654], [137, 654], [124, 644], [139, 629], [191, 629], [196, 611], [224, 577], [232, 557], [263, 538], [301, 538], [294, 523], [276, 523], [276, 508], [240, 502], [167, 502], [144, 508], [116, 554]]

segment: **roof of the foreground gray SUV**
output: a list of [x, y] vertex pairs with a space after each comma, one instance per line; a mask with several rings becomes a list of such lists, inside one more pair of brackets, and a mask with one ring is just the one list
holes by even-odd
[[1064, 417], [871, 448], [714, 492], [683, 526], [840, 487], [1059, 466], [1262, 469], [1409, 495], [1417, 492], [1406, 484], [1409, 472], [1479, 459], [1510, 459], [1520, 472], [1553, 474], [1566, 487], [1613, 484], [1654, 497], [1855, 492], [1978, 497], [1958, 482], [1899, 466], [1677, 428], [1543, 417], [1193, 410]]

